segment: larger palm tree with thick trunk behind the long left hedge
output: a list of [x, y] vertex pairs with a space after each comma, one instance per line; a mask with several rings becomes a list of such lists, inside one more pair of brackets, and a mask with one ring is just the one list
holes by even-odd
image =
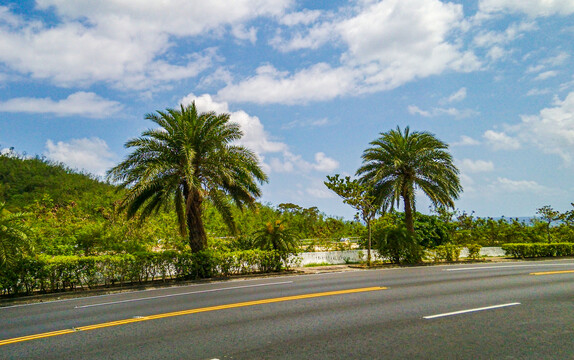
[[202, 204], [209, 199], [231, 230], [232, 203], [240, 209], [261, 196], [267, 181], [256, 155], [233, 143], [243, 133], [229, 114], [198, 113], [195, 103], [147, 114], [160, 128], [146, 130], [125, 144], [134, 151], [108, 171], [108, 179], [127, 189], [120, 203], [129, 218], [145, 218], [174, 204], [179, 230], [193, 252], [207, 246]]

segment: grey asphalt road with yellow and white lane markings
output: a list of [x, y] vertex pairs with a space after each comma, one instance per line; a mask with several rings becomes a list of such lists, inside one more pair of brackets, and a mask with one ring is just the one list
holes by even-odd
[[194, 284], [0, 308], [1, 359], [574, 358], [574, 260]]

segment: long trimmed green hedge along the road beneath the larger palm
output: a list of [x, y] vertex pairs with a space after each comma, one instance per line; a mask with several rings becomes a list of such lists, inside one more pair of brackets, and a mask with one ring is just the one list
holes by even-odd
[[38, 256], [0, 267], [0, 292], [31, 294], [279, 271], [285, 264], [275, 251], [145, 252], [102, 256]]

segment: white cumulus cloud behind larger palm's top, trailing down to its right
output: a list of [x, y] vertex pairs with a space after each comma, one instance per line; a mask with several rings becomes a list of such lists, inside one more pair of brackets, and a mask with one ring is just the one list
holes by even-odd
[[[339, 167], [338, 161], [328, 157], [323, 152], [315, 154], [314, 162], [304, 160], [301, 155], [291, 152], [287, 144], [272, 140], [272, 136], [265, 131], [258, 117], [251, 116], [243, 110], [230, 111], [226, 102], [216, 101], [209, 94], [201, 96], [189, 94], [180, 103], [187, 105], [192, 101], [195, 101], [199, 111], [230, 114], [230, 120], [238, 123], [243, 131], [243, 137], [238, 143], [254, 151], [264, 163], [267, 171], [280, 173], [295, 171], [331, 172]], [[267, 161], [267, 158], [270, 160]]]

